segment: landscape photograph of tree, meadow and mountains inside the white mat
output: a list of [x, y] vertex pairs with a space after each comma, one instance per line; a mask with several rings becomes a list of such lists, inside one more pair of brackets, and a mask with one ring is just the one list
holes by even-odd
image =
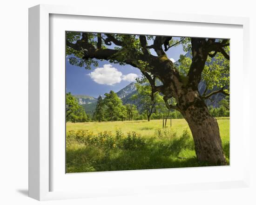
[[66, 173], [229, 166], [230, 39], [65, 37]]

